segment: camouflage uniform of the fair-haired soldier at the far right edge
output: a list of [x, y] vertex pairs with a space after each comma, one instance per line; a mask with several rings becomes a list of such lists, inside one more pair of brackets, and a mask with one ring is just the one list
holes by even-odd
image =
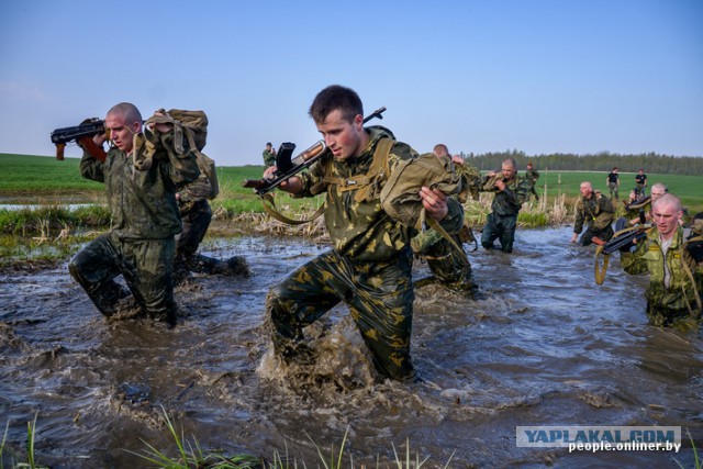
[[[634, 253], [621, 253], [621, 264], [627, 273], [649, 273], [649, 286], [645, 291], [647, 317], [649, 323], [659, 326], [672, 325], [677, 320], [687, 319], [693, 312], [700, 319], [695, 301], [696, 290], [701, 298], [703, 291], [703, 266], [695, 260], [683, 246], [683, 228], [678, 227], [673, 241], [662, 254], [659, 232], [656, 228], [647, 233], [645, 241], [637, 243]], [[693, 282], [683, 267], [687, 263], [695, 281]], [[665, 272], [670, 273], [669, 286], [665, 283]]]

